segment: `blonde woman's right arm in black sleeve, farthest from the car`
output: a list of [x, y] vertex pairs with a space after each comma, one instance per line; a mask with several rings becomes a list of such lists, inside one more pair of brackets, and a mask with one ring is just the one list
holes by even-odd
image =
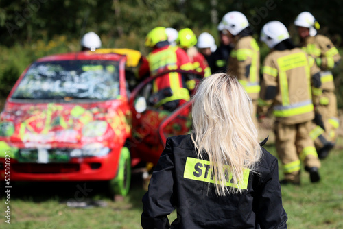
[[[268, 152], [263, 149], [263, 154], [268, 154]], [[276, 158], [268, 172], [266, 176], [262, 175], [261, 183], [256, 189], [254, 211], [257, 213], [257, 224], [261, 228], [287, 228], [287, 213], [282, 204], [279, 167]]]

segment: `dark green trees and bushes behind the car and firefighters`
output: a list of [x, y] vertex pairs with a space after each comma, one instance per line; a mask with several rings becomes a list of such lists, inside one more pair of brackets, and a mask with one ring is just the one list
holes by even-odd
[[[259, 37], [261, 27], [278, 20], [298, 43], [293, 21], [305, 10], [322, 25], [336, 47], [342, 45], [343, 1], [297, 0], [1, 0], [0, 97], [6, 97], [28, 64], [53, 53], [80, 50], [80, 38], [94, 31], [102, 47], [131, 48], [147, 54], [144, 38], [156, 26], [190, 27], [217, 39], [217, 24], [226, 12], [243, 12]], [[261, 44], [261, 58], [268, 49]], [[343, 89], [343, 64], [334, 71]], [[340, 90], [338, 90], [340, 91]], [[343, 101], [338, 97], [342, 108]]]

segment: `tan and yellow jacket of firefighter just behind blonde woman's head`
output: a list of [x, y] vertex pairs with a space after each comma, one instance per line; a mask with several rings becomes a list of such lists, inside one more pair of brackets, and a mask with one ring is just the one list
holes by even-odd
[[228, 71], [237, 75], [251, 99], [259, 98], [259, 66], [260, 54], [256, 40], [252, 36], [239, 38], [230, 53]]

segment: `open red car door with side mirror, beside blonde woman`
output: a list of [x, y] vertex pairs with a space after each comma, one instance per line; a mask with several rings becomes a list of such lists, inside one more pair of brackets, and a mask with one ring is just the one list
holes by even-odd
[[[203, 77], [193, 71], [170, 72], [182, 73], [188, 80], [193, 80], [196, 84]], [[165, 74], [161, 73], [156, 77], [162, 77]], [[174, 111], [154, 106], [152, 98], [156, 96], [152, 94], [152, 81], [156, 80], [156, 77], [147, 77], [134, 88], [129, 101], [132, 110], [130, 148], [141, 160], [152, 162], [154, 165], [163, 152], [167, 137], [188, 134], [192, 125], [191, 101], [187, 101]], [[193, 94], [193, 91], [190, 91], [190, 95]]]

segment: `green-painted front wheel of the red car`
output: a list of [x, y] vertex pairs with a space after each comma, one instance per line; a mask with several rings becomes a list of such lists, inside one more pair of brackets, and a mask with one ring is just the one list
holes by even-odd
[[117, 176], [110, 180], [110, 193], [113, 195], [128, 195], [131, 182], [131, 157], [127, 147], [121, 149]]

